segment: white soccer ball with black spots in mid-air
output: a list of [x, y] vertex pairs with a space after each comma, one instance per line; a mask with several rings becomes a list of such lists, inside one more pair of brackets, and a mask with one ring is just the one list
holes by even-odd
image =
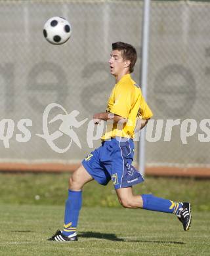
[[53, 17], [47, 20], [43, 28], [45, 39], [53, 45], [66, 43], [72, 34], [72, 28], [68, 20], [61, 17]]

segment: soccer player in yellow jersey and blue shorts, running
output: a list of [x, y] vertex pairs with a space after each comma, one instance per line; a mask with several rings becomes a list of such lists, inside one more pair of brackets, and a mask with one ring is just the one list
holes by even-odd
[[141, 129], [152, 117], [152, 111], [146, 104], [140, 87], [130, 75], [136, 61], [137, 51], [132, 45], [122, 42], [112, 44], [109, 64], [116, 85], [112, 89], [106, 112], [93, 116], [96, 125], [101, 120], [107, 121], [106, 133], [102, 137], [102, 145], [88, 154], [70, 177], [64, 228], [57, 230], [49, 240], [77, 241], [76, 228], [82, 203], [82, 188], [94, 179], [102, 185], [108, 184], [112, 179], [119, 203], [123, 207], [174, 213], [184, 230], [190, 227], [190, 203], [173, 202], [152, 194], [133, 194], [132, 186], [144, 181], [140, 172], [132, 165], [135, 127], [139, 117], [142, 119]]

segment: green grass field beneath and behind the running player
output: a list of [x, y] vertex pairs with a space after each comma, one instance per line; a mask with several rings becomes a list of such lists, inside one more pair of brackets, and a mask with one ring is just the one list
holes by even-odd
[[79, 241], [48, 242], [62, 228], [67, 179], [66, 174], [0, 174], [0, 255], [210, 255], [209, 181], [148, 177], [135, 188], [190, 200], [188, 232], [174, 215], [118, 207], [112, 184], [87, 184]]

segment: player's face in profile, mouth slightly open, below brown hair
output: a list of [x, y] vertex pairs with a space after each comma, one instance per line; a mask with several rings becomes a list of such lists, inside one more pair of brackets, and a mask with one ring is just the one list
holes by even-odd
[[115, 76], [121, 74], [125, 69], [125, 63], [123, 57], [121, 56], [121, 51], [114, 50], [110, 55], [110, 73]]

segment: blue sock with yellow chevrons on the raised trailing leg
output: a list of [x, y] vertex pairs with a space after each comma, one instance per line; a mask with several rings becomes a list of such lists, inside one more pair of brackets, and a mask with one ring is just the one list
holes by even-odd
[[143, 209], [150, 211], [161, 211], [163, 213], [177, 213], [180, 207], [182, 207], [181, 203], [173, 202], [171, 200], [157, 198], [152, 194], [144, 194], [142, 195], [143, 200]]

